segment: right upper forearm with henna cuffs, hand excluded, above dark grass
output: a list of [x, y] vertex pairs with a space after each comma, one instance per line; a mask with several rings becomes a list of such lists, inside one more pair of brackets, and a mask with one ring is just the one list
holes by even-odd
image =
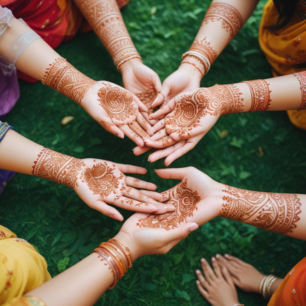
[[306, 107], [306, 72], [266, 80], [215, 85], [210, 100], [220, 101], [220, 114], [265, 110], [300, 110]]

